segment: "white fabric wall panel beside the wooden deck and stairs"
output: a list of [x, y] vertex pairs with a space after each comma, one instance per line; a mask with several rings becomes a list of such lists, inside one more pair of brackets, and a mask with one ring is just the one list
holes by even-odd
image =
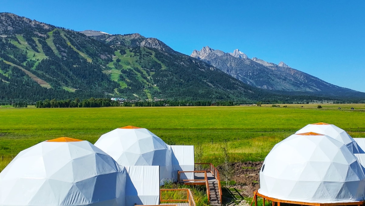
[[[194, 145], [171, 145], [173, 178], [177, 180], [177, 171], [194, 171]], [[180, 173], [180, 179], [194, 179], [194, 173]]]

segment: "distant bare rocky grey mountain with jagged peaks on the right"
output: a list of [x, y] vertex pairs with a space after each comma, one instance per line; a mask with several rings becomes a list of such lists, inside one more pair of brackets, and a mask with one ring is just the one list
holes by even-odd
[[224, 53], [205, 46], [200, 51], [194, 50], [190, 56], [203, 60], [243, 83], [258, 88], [326, 95], [358, 93], [293, 69], [284, 62], [274, 64], [256, 57], [250, 59], [238, 49], [233, 53]]

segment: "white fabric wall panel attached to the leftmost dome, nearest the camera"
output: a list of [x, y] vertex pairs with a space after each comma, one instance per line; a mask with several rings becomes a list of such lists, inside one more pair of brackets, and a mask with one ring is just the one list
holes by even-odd
[[158, 205], [160, 166], [126, 166], [126, 206]]

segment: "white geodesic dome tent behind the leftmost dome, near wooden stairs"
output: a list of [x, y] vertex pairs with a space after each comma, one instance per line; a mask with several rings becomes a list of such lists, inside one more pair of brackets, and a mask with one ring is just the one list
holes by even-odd
[[122, 166], [159, 165], [161, 185], [173, 178], [170, 146], [145, 128], [117, 128], [103, 134], [94, 145]]

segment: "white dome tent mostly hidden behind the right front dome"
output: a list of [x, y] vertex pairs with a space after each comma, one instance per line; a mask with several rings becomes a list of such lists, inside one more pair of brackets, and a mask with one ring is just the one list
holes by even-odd
[[315, 132], [319, 134], [324, 134], [335, 140], [342, 142], [349, 148], [352, 153], [364, 153], [364, 151], [357, 145], [355, 140], [347, 134], [347, 132], [335, 125], [319, 122], [315, 124], [309, 124], [302, 129], [298, 130], [295, 134]]

